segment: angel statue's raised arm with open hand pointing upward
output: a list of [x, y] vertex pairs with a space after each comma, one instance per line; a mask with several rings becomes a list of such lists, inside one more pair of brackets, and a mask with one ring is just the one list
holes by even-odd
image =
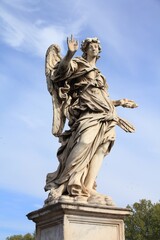
[[74, 56], [75, 52], [78, 50], [78, 41], [75, 40], [72, 35], [70, 39], [67, 38], [67, 45], [68, 45], [67, 54], [61, 60], [58, 71], [65, 72], [68, 69], [72, 57]]

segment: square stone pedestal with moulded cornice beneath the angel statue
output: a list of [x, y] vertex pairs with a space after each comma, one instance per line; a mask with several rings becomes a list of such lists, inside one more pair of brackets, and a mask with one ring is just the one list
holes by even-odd
[[125, 240], [129, 209], [58, 202], [27, 215], [36, 223], [36, 240]]

